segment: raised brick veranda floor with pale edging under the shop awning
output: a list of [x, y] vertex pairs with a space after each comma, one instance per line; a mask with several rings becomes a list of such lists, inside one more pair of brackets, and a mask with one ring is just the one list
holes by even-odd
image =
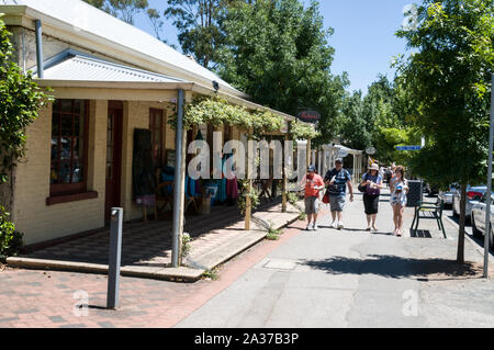
[[[303, 205], [303, 202], [297, 205]], [[238, 208], [216, 206], [209, 215], [188, 216], [184, 230], [190, 234], [190, 255], [184, 267], [171, 268], [171, 223], [162, 219], [134, 222], [123, 226], [122, 269], [126, 276], [159, 280], [195, 281], [204, 271], [238, 255], [262, 240], [270, 225], [287, 226], [299, 217], [300, 210], [281, 200], [267, 201], [252, 213], [250, 230], [244, 229]], [[109, 229], [45, 247], [27, 255], [11, 257], [11, 267], [103, 273], [108, 271]]]

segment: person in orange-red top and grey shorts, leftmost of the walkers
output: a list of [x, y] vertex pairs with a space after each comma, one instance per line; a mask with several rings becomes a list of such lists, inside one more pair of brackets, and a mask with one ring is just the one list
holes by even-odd
[[[307, 214], [306, 230], [317, 229], [317, 213], [319, 211], [319, 191], [324, 189], [324, 181], [321, 176], [315, 173], [315, 166], [307, 168], [307, 173], [302, 178], [302, 184], [305, 185], [305, 214]], [[312, 226], [311, 226], [312, 221]]]

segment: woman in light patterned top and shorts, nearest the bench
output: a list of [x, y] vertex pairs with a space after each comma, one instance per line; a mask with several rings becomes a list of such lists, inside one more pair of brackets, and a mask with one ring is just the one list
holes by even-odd
[[394, 170], [394, 177], [390, 183], [391, 199], [390, 203], [393, 207], [393, 222], [394, 232], [393, 235], [402, 236], [403, 227], [403, 212], [406, 205], [406, 194], [408, 193], [408, 181], [405, 179], [405, 168], [397, 166]]

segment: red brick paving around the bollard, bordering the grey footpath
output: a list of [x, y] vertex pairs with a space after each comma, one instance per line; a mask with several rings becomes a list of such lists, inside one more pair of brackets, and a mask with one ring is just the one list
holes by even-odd
[[[7, 268], [0, 271], [0, 327], [172, 327], [223, 291], [305, 226], [295, 222], [279, 240], [263, 240], [225, 263], [216, 281], [195, 283], [121, 278], [120, 307], [105, 309], [106, 276]], [[89, 294], [88, 316], [76, 316], [76, 291]]]

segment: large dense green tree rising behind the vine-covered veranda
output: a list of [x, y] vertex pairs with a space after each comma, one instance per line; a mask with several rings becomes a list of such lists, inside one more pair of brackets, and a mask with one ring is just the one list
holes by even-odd
[[348, 79], [330, 74], [333, 30], [324, 30], [318, 3], [304, 9], [297, 0], [233, 1], [222, 27], [222, 78], [256, 103], [292, 115], [318, 111], [318, 142], [330, 140]]

